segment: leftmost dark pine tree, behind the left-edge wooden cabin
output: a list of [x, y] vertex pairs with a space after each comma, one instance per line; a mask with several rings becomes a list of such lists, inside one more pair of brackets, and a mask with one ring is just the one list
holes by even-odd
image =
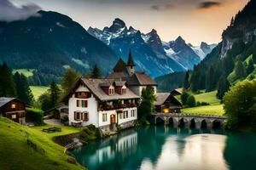
[[0, 65], [0, 97], [16, 97], [15, 81], [11, 69], [4, 62]]

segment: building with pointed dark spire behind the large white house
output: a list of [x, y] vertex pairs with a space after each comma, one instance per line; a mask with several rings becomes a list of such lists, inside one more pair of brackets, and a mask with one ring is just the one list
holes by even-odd
[[147, 86], [154, 87], [154, 92], [156, 93], [157, 83], [144, 72], [135, 71], [131, 51], [127, 63], [123, 59], [119, 59], [113, 68], [113, 72], [108, 74], [107, 78], [125, 81], [131, 91], [138, 96], [142, 96], [143, 88]]

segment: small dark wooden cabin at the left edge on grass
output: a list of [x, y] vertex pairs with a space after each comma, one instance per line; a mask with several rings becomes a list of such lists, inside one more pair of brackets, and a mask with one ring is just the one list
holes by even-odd
[[16, 98], [0, 98], [0, 116], [7, 117], [14, 122], [26, 124], [26, 105]]

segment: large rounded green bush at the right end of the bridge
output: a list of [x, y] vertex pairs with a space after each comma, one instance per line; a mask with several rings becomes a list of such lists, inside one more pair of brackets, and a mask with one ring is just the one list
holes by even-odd
[[226, 126], [236, 129], [256, 125], [256, 80], [238, 82], [224, 95]]

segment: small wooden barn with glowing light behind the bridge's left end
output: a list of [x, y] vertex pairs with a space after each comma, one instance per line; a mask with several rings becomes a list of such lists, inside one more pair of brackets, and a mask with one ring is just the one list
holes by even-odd
[[154, 102], [155, 111], [157, 113], [180, 113], [183, 105], [172, 96], [171, 93], [155, 94], [156, 101]]

